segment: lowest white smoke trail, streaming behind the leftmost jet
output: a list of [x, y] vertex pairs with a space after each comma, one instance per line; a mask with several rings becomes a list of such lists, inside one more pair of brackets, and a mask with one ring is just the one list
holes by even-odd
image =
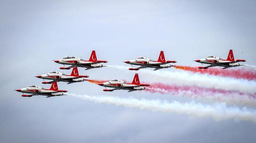
[[126, 108], [137, 108], [152, 111], [161, 111], [166, 113], [179, 113], [194, 115], [197, 117], [212, 117], [213, 119], [229, 120], [238, 119], [244, 121], [253, 121], [256, 123], [256, 111], [246, 107], [227, 107], [225, 103], [215, 103], [213, 105], [196, 103], [195, 101], [180, 103], [178, 101], [168, 102], [166, 100], [147, 100], [136, 98], [119, 98], [113, 96], [80, 96], [69, 94], [71, 96], [79, 97], [84, 100], [94, 101], [96, 103], [107, 103], [116, 106], [124, 106]]

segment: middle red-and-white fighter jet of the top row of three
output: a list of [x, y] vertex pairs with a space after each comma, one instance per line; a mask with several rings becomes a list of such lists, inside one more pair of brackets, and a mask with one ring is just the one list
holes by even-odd
[[138, 57], [137, 59], [126, 61], [124, 63], [140, 66], [138, 68], [129, 68], [129, 70], [139, 70], [139, 69], [148, 68], [148, 67], [155, 68], [154, 70], [158, 70], [158, 69], [172, 67], [168, 63], [176, 63], [176, 61], [165, 61], [164, 52], [161, 51], [157, 61], [154, 61], [152, 59], [145, 58], [145, 57]]

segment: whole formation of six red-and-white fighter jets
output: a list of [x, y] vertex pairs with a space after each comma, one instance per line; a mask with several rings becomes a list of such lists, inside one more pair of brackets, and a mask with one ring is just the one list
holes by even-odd
[[[86, 79], [89, 76], [87, 75], [79, 75], [77, 67], [93, 69], [93, 68], [101, 68], [105, 67], [106, 65], [102, 65], [100, 63], [107, 63], [107, 61], [101, 61], [97, 60], [97, 56], [95, 51], [92, 51], [91, 56], [89, 60], [84, 60], [82, 58], [74, 57], [74, 56], [65, 56], [62, 59], [54, 61], [55, 63], [62, 64], [62, 65], [71, 65], [69, 67], [60, 67], [60, 69], [71, 69], [73, 68], [70, 75], [66, 75], [60, 72], [49, 72], [47, 74], [38, 75], [35, 76], [40, 79], [47, 79], [51, 81], [43, 81], [42, 84], [52, 84], [51, 88], [45, 89], [40, 86], [31, 85], [26, 88], [17, 89], [16, 91], [22, 92], [22, 97], [32, 97], [36, 95], [42, 95], [46, 97], [54, 97], [54, 96], [62, 96], [65, 95], [63, 92], [67, 92], [67, 90], [59, 90], [57, 82], [67, 82], [67, 84], [77, 83], [77, 82], [83, 82], [86, 81]], [[201, 63], [201, 64], [210, 64], [206, 67], [198, 67], [200, 69], [207, 69], [209, 67], [215, 67], [220, 66], [224, 67], [223, 69], [230, 68], [230, 67], [237, 67], [237, 66], [243, 66], [239, 64], [238, 62], [246, 62], [245, 59], [237, 59], [235, 61], [234, 55], [232, 50], [229, 51], [228, 58], [222, 59], [220, 57], [216, 56], [207, 56], [202, 59], [197, 59], [195, 62]], [[158, 60], [152, 60], [146, 57], [138, 57], [136, 59], [132, 59], [130, 61], [125, 61], [124, 63], [130, 64], [130, 65], [138, 65], [140, 67], [137, 68], [129, 68], [129, 70], [139, 70], [143, 68], [155, 68], [154, 70], [159, 70], [163, 68], [170, 68], [172, 65], [170, 63], [176, 63], [176, 61], [166, 61], [164, 52], [161, 51], [158, 57]], [[149, 84], [140, 84], [139, 82], [139, 76], [136, 73], [134, 76], [134, 79], [132, 83], [126, 83], [122, 80], [113, 79], [105, 83], [98, 84], [103, 87], [109, 87], [112, 89], [103, 89], [103, 91], [114, 91], [114, 90], [129, 90], [131, 91], [137, 91], [137, 90], [145, 90], [145, 86], [150, 86]], [[24, 93], [30, 94], [30, 95], [24, 95]]]

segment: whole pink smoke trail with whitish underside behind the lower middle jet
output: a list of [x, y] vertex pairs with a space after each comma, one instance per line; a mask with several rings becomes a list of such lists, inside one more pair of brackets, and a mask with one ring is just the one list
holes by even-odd
[[231, 104], [244, 104], [246, 106], [256, 106], [256, 93], [244, 94], [238, 91], [204, 88], [198, 86], [178, 86], [162, 83], [150, 83], [147, 90], [150, 93], [172, 94], [192, 99], [209, 99]]

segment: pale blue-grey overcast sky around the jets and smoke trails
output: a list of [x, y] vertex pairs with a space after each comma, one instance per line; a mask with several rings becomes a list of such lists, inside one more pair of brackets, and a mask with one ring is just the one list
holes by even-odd
[[[0, 142], [256, 142], [256, 125], [249, 121], [128, 109], [72, 96], [24, 98], [13, 91], [42, 86], [43, 80], [33, 76], [55, 70], [70, 74], [52, 60], [66, 55], [89, 59], [92, 50], [106, 65], [128, 66], [122, 61], [138, 56], [157, 59], [163, 50], [176, 65], [199, 66], [192, 60], [226, 58], [233, 49], [235, 58], [256, 65], [255, 7], [254, 0], [1, 0]], [[103, 67], [79, 68], [79, 73], [130, 81], [135, 71]], [[140, 81], [153, 80], [140, 76]], [[103, 92], [88, 82], [58, 83], [58, 88], [77, 95], [191, 100], [145, 91]]]

